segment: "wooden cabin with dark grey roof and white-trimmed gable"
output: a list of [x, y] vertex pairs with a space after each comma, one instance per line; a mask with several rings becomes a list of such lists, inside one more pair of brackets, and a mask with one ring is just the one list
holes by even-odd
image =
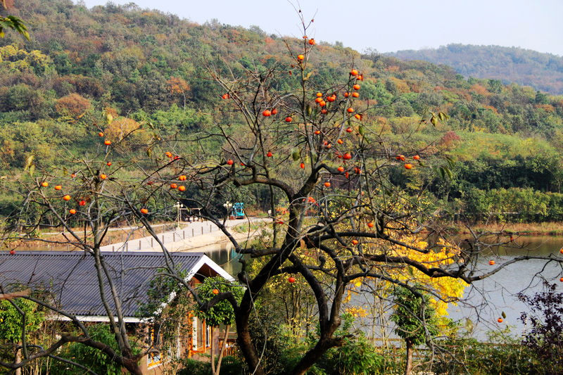
[[[141, 332], [146, 336], [143, 341], [147, 343], [158, 340], [154, 337], [151, 318], [144, 317], [139, 312], [140, 307], [148, 302], [147, 292], [151, 280], [165, 265], [164, 256], [162, 252], [103, 253], [103, 260], [110, 269], [110, 277], [120, 291], [127, 330], [137, 334], [137, 338]], [[205, 277], [220, 276], [234, 281], [231, 275], [203, 253], [171, 253], [170, 261], [176, 269], [187, 275], [185, 280], [191, 286], [201, 283]], [[11, 291], [15, 286], [48, 291], [50, 295], [56, 296], [56, 302], [63, 311], [74, 314], [82, 322], [109, 322], [100, 297], [94, 257], [83, 251], [18, 251], [13, 255], [8, 251], [1, 251], [0, 285], [4, 291]], [[108, 288], [107, 282], [105, 287]], [[106, 293], [108, 292], [107, 290]], [[175, 294], [171, 293], [168, 303], [173, 298]], [[113, 301], [108, 302], [115, 310]], [[163, 303], [159, 310], [163, 311], [166, 305]], [[193, 314], [189, 314], [186, 319], [191, 323], [191, 334], [177, 337], [175, 348], [170, 348], [166, 353], [146, 355], [140, 362], [144, 374], [161, 374], [163, 364], [172, 357], [201, 359], [202, 355], [210, 353], [212, 346], [219, 347], [219, 337], [212, 337], [212, 330], [204, 321]], [[70, 319], [51, 314], [47, 320]], [[216, 336], [222, 336], [220, 331], [219, 333]], [[227, 352], [232, 348], [232, 342], [229, 344]]]

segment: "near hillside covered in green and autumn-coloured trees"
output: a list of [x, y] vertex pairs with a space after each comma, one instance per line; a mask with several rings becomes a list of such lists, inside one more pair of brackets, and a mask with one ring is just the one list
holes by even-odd
[[[279, 89], [298, 84], [285, 44], [295, 46], [296, 39], [217, 22], [198, 25], [134, 4], [16, 5], [11, 13], [29, 25], [31, 41], [13, 32], [0, 39], [0, 175], [22, 168], [30, 155], [39, 169], [64, 163], [62, 149], [87, 153], [99, 143], [94, 124], [104, 123], [106, 113], [119, 120], [103, 129], [106, 135], [140, 129], [137, 144], [154, 131], [185, 136], [217, 122], [236, 127], [205, 64], [224, 69], [228, 63], [232, 71], [223, 72], [234, 75], [275, 66]], [[391, 143], [410, 134], [416, 139], [411, 151], [424, 151], [425, 159], [456, 160], [448, 183], [431, 168], [393, 172], [389, 179], [405, 189], [430, 186], [434, 204], [456, 212], [525, 209], [533, 220], [563, 220], [563, 96], [331, 44], [312, 49], [309, 82], [341, 82], [351, 61], [365, 77], [362, 100], [379, 104], [362, 117], [367, 129]], [[421, 127], [429, 111], [450, 118]], [[177, 147], [182, 152], [182, 144]], [[246, 203], [257, 198], [253, 194]], [[0, 214], [15, 204], [2, 189]]]

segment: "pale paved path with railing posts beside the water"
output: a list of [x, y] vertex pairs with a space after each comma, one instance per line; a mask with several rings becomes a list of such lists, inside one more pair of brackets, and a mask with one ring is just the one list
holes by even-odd
[[[271, 222], [271, 220], [265, 220], [258, 217], [248, 217], [247, 219], [239, 220], [227, 220], [225, 222], [225, 227], [232, 229], [239, 224], [245, 224], [248, 222]], [[233, 236], [237, 241], [245, 239], [245, 237], [254, 236], [255, 232], [249, 233], [236, 233], [231, 231]], [[185, 251], [194, 250], [196, 248], [202, 248], [211, 244], [219, 243], [227, 239], [222, 231], [219, 230], [212, 222], [189, 222], [180, 223], [180, 227], [172, 230], [165, 231], [158, 234], [158, 239], [160, 242], [164, 243], [167, 250], [169, 251]], [[153, 238], [153, 236], [142, 237], [141, 239], [134, 239], [125, 242], [111, 243], [110, 245], [102, 246], [100, 248], [102, 251], [160, 251], [160, 245]]]

